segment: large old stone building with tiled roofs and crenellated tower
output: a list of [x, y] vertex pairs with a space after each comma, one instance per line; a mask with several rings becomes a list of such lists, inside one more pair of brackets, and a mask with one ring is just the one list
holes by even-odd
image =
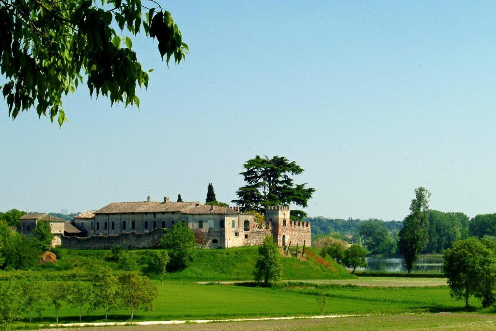
[[[151, 201], [150, 196], [146, 201], [112, 202], [101, 209], [80, 213], [71, 222], [61, 223], [54, 240], [57, 245], [70, 248], [157, 247], [163, 234], [158, 229], [172, 228], [180, 222], [194, 232], [201, 248], [260, 245], [267, 235], [278, 246], [311, 245], [310, 223], [292, 221], [289, 206], [268, 207], [265, 224], [257, 224], [253, 215], [242, 213], [239, 207], [173, 202], [168, 197]], [[21, 230], [27, 233], [34, 226], [23, 222]]]

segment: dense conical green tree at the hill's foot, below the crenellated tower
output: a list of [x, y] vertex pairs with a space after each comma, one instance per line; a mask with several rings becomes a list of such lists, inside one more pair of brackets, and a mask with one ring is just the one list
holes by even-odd
[[258, 258], [253, 275], [257, 283], [263, 281], [265, 285], [281, 281], [281, 256], [272, 236], [266, 236], [262, 246], [258, 247]]

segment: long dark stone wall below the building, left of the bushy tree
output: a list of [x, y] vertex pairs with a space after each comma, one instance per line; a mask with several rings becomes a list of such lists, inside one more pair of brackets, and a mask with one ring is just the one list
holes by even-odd
[[79, 250], [107, 250], [114, 246], [123, 249], [159, 248], [163, 229], [155, 229], [145, 233], [122, 233], [113, 236], [91, 236], [88, 238], [62, 236], [62, 247]]

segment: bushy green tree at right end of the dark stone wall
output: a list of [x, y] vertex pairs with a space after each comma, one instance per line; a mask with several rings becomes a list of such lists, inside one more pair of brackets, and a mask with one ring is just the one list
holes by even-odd
[[193, 231], [185, 224], [178, 223], [162, 237], [162, 245], [169, 250], [170, 270], [184, 269], [193, 260], [196, 242]]

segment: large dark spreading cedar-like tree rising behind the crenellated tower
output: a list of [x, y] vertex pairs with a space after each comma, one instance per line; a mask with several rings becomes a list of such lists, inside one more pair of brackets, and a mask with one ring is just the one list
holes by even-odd
[[[307, 188], [307, 184], [295, 184], [290, 175], [300, 175], [304, 170], [295, 161], [284, 156], [255, 156], [248, 160], [241, 172], [247, 185], [241, 187], [236, 194], [239, 199], [232, 202], [241, 206], [243, 211], [256, 210], [265, 214], [266, 206], [290, 204], [306, 207], [315, 189]], [[301, 210], [292, 210], [293, 215], [306, 216]]]

